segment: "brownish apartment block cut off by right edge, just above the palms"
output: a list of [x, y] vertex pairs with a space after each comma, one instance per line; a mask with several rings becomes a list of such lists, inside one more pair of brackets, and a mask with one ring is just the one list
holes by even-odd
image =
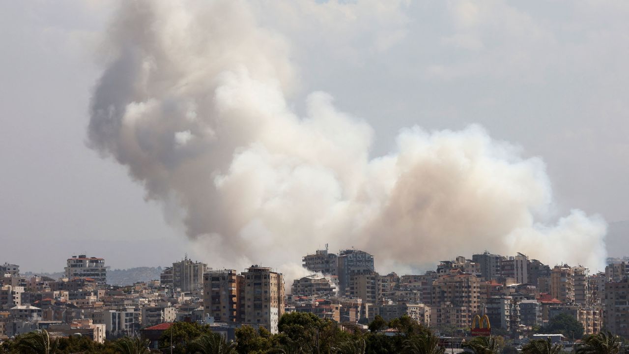
[[605, 283], [605, 328], [618, 336], [629, 338], [629, 278]]

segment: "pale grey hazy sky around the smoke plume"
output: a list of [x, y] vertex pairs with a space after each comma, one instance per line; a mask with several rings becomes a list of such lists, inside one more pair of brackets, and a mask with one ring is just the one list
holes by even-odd
[[[294, 111], [306, 111], [309, 93], [329, 93], [373, 127], [373, 156], [386, 154], [402, 127], [478, 123], [545, 162], [552, 215], [602, 215], [610, 256], [629, 254], [621, 242], [629, 231], [626, 2], [250, 6], [298, 64], [287, 93]], [[0, 262], [57, 271], [72, 254], [101, 256], [114, 268], [198, 256], [181, 223], [164, 217], [167, 207], [87, 146], [115, 3], [0, 7]]]

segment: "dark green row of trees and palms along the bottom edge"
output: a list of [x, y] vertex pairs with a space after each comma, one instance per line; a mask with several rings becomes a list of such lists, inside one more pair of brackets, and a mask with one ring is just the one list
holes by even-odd
[[[369, 324], [369, 331], [348, 331], [314, 314], [292, 312], [279, 321], [279, 333], [264, 328], [242, 326], [235, 330], [235, 341], [225, 341], [210, 326], [178, 322], [159, 338], [159, 348], [139, 338], [121, 338], [95, 343], [87, 337], [52, 339], [46, 331], [21, 334], [0, 345], [0, 354], [445, 354], [440, 338], [408, 316], [388, 323], [382, 317]], [[392, 335], [383, 332], [392, 329]], [[391, 334], [391, 332], [388, 332]], [[516, 354], [501, 336], [476, 337], [464, 343], [465, 351], [476, 354]], [[449, 349], [449, 348], [448, 348]], [[562, 345], [548, 340], [532, 340], [521, 348], [523, 354], [559, 354]], [[599, 333], [584, 337], [578, 354], [618, 354], [622, 349], [618, 336]]]

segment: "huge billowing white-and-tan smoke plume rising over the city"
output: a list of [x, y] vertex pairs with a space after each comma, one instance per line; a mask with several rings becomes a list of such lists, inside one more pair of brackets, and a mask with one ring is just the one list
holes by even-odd
[[289, 45], [246, 3], [125, 1], [108, 33], [89, 142], [182, 210], [210, 265], [282, 270], [325, 243], [381, 271], [484, 249], [602, 265], [604, 220], [557, 220], [542, 161], [482, 127], [403, 128], [372, 157], [374, 130], [330, 95], [298, 117]]

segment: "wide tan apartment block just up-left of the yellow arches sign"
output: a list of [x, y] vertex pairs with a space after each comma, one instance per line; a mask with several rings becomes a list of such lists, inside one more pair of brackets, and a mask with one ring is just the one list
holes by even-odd
[[437, 316], [445, 316], [442, 317], [443, 320], [446, 317], [454, 318], [457, 320], [456, 323], [465, 323], [465, 326], [470, 326], [472, 318], [479, 312], [479, 299], [479, 278], [460, 270], [454, 270], [452, 274], [444, 275], [433, 283], [431, 306], [435, 307], [437, 311], [432, 311], [432, 313], [437, 314]]

